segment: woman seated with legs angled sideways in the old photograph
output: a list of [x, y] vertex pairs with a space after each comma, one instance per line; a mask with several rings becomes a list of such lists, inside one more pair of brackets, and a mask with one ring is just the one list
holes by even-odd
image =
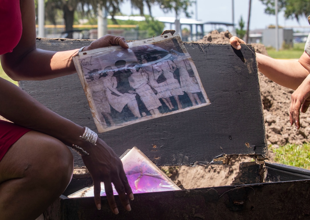
[[120, 93], [116, 90], [117, 80], [116, 77], [113, 76], [114, 71], [111, 66], [105, 67], [104, 71], [106, 71], [102, 75], [102, 84], [105, 89], [105, 95], [108, 99], [108, 103], [112, 106], [113, 109], [118, 112], [122, 112], [123, 108], [127, 105], [129, 110], [131, 110], [132, 114], [141, 118], [138, 104], [135, 98], [135, 94], [131, 93]]

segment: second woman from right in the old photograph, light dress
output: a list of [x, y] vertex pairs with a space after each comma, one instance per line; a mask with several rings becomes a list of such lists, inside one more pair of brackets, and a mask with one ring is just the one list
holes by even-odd
[[[162, 59], [160, 55], [158, 55], [156, 58], [157, 60]], [[156, 70], [154, 71], [155, 80], [157, 80], [158, 77], [160, 77], [160, 75], [162, 74], [164, 75], [167, 82], [166, 88], [170, 91], [171, 95], [174, 97], [178, 105], [178, 109], [182, 109], [182, 104], [179, 100], [179, 95], [184, 95], [184, 92], [181, 89], [179, 81], [175, 79], [173, 76], [173, 72], [176, 69], [175, 64], [171, 60], [165, 59], [156, 63], [154, 69]], [[172, 106], [172, 108], [174, 108], [174, 106]]]

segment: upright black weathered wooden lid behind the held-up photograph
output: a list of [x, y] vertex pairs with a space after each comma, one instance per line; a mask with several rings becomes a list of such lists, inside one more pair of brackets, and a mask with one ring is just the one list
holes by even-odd
[[[90, 40], [38, 39], [45, 50], [69, 50]], [[184, 43], [211, 105], [99, 134], [117, 155], [138, 147], [157, 166], [210, 163], [222, 154], [267, 154], [254, 49], [229, 44]], [[20, 87], [56, 113], [96, 131], [77, 74]], [[157, 147], [154, 148], [153, 145]], [[83, 166], [75, 157], [75, 166]]]

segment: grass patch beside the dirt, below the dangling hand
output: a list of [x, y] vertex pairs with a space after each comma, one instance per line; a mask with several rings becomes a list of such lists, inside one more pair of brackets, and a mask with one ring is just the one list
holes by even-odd
[[279, 147], [270, 146], [270, 148], [276, 154], [275, 162], [310, 170], [309, 143], [303, 145], [286, 144]]

